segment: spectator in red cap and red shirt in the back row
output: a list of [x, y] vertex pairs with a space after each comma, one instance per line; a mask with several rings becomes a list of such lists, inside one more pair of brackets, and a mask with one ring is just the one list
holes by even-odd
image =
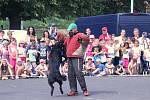
[[107, 27], [102, 28], [102, 34], [99, 36], [99, 40], [104, 40], [105, 42], [109, 41], [111, 39], [111, 35], [108, 34]]

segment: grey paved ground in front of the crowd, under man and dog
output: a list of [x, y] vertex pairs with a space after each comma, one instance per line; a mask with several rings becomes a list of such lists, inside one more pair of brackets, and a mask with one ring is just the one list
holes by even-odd
[[91, 96], [68, 97], [68, 82], [64, 95], [55, 84], [50, 96], [47, 79], [0, 80], [0, 100], [150, 100], [150, 77], [86, 77]]

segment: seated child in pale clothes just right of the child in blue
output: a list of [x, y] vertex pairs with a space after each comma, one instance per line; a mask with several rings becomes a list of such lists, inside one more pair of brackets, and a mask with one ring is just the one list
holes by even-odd
[[105, 71], [107, 75], [112, 75], [114, 73], [115, 66], [112, 63], [112, 59], [108, 58], [107, 63], [105, 65]]

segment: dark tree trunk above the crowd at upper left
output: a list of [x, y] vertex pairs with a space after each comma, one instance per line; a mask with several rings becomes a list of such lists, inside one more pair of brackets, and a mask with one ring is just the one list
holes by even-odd
[[21, 28], [21, 18], [19, 16], [9, 17], [9, 29], [10, 30], [20, 30]]

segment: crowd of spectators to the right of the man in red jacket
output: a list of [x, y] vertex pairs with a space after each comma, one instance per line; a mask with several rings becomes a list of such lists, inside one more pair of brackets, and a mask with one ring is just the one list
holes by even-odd
[[85, 51], [84, 73], [90, 76], [103, 75], [147, 75], [149, 74], [150, 40], [147, 33], [140, 37], [139, 29], [133, 29], [133, 37], [126, 36], [122, 29], [120, 36], [101, 29], [102, 34], [95, 38], [89, 28], [90, 42]]

